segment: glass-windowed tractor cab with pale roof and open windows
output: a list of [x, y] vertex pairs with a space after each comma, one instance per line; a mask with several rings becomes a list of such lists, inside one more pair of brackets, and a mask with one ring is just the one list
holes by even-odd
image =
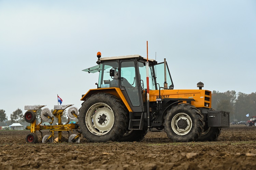
[[[118, 88], [122, 91], [127, 104], [132, 112], [143, 112], [145, 110], [145, 90], [146, 84], [146, 58], [140, 55], [127, 55], [118, 57], [99, 58], [99, 65], [84, 69], [88, 73], [99, 72], [97, 89]], [[168, 65], [155, 60], [149, 60], [149, 89], [159, 90], [164, 86], [164, 70], [167, 70], [166, 80], [169, 86], [167, 89], [173, 89], [173, 82], [169, 72]], [[115, 90], [113, 90], [114, 93]]]

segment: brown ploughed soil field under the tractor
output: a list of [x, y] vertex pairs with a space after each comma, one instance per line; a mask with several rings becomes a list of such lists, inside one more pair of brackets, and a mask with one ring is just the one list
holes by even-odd
[[[12, 169], [255, 169], [256, 127], [231, 125], [214, 142], [170, 142], [148, 132], [141, 142], [26, 143], [28, 130], [0, 131], [0, 167]], [[38, 132], [39, 141], [42, 141]], [[49, 134], [43, 131], [43, 135]], [[57, 135], [57, 134], [56, 134]]]

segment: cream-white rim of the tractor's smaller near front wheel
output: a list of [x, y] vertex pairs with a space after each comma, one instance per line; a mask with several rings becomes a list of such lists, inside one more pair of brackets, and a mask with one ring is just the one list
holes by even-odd
[[172, 130], [177, 135], [186, 135], [192, 128], [192, 120], [185, 113], [179, 113], [172, 118]]

